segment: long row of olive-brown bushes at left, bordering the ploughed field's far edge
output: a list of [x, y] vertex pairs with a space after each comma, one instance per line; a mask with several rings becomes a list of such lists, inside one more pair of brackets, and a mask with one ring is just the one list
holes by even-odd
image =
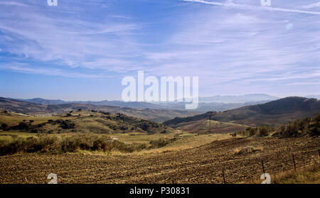
[[9, 155], [19, 152], [26, 153], [65, 153], [78, 150], [119, 150], [124, 153], [132, 153], [146, 148], [146, 144], [127, 144], [117, 141], [109, 136], [95, 133], [76, 133], [72, 136], [57, 136], [39, 134], [30, 138], [13, 137], [13, 141], [0, 141], [0, 155]]

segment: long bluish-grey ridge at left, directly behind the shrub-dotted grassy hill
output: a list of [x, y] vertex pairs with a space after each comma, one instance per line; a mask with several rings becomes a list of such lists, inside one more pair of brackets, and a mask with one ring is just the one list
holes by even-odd
[[0, 97], [0, 109], [14, 111], [21, 114], [30, 115], [52, 115], [63, 114], [68, 111], [74, 111], [78, 109], [82, 110], [95, 110], [95, 111], [107, 111], [112, 114], [126, 114], [127, 116], [134, 116], [140, 119], [147, 119], [156, 122], [166, 121], [173, 119], [176, 116], [193, 116], [197, 112], [183, 111], [183, 110], [171, 110], [171, 109], [133, 109], [129, 107], [119, 106], [105, 106], [94, 104], [35, 104], [28, 101], [18, 101], [15, 99], [6, 99]]

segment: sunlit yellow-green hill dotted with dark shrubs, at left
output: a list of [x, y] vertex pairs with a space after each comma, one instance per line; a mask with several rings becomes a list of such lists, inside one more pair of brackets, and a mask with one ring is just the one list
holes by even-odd
[[70, 111], [57, 116], [36, 117], [1, 111], [0, 130], [32, 133], [173, 133], [162, 123], [102, 111]]

